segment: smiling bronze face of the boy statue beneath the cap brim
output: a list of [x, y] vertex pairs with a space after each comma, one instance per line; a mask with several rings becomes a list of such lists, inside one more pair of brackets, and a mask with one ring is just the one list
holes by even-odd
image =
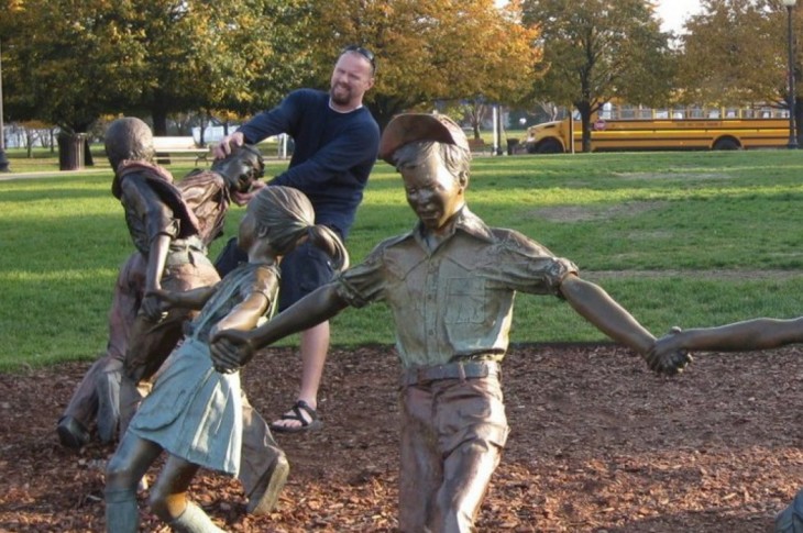
[[420, 165], [399, 168], [407, 203], [429, 231], [438, 231], [465, 204], [465, 186], [432, 154]]

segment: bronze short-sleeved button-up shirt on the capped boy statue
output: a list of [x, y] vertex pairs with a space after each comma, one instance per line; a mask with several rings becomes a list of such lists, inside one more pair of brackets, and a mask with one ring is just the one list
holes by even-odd
[[337, 280], [350, 306], [385, 301], [405, 368], [502, 360], [516, 291], [554, 295], [578, 267], [513, 230], [488, 227], [468, 208], [430, 249], [417, 225], [381, 243]]

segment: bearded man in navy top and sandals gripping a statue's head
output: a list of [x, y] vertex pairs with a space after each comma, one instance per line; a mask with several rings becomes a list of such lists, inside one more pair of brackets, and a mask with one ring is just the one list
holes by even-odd
[[[255, 115], [224, 137], [215, 149], [216, 157], [224, 157], [233, 146], [289, 134], [295, 141], [289, 167], [267, 185], [302, 191], [312, 202], [316, 223], [329, 226], [345, 241], [378, 152], [380, 127], [363, 107], [363, 97], [374, 85], [375, 69], [373, 53], [362, 46], [346, 46], [334, 65], [329, 92], [290, 92], [279, 106]], [[235, 246], [228, 246], [216, 262], [221, 276], [242, 260], [235, 251]], [[315, 246], [299, 246], [282, 262], [279, 311], [327, 284], [332, 274], [324, 254]], [[272, 430], [295, 433], [320, 425], [316, 411], [318, 388], [328, 351], [329, 322], [301, 332], [298, 398], [280, 420], [271, 424]]]

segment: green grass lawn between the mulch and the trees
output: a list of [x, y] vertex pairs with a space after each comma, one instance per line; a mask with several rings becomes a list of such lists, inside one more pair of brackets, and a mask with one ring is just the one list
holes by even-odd
[[[272, 160], [266, 174], [285, 165]], [[803, 151], [476, 157], [468, 199], [490, 224], [572, 259], [659, 334], [803, 313], [802, 178]], [[0, 370], [103, 351], [113, 282], [132, 251], [110, 182], [110, 171], [55, 170], [0, 181]], [[242, 214], [232, 210], [227, 235]], [[352, 263], [414, 223], [398, 175], [377, 163], [346, 243]], [[564, 302], [517, 298], [513, 342], [604, 340]], [[387, 309], [344, 311], [332, 342], [392, 344]]]

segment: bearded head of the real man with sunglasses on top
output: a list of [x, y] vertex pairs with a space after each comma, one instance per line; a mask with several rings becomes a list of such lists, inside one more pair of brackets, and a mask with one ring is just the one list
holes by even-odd
[[362, 106], [363, 96], [374, 86], [376, 60], [362, 46], [346, 46], [332, 70], [329, 97], [332, 108], [348, 112]]

